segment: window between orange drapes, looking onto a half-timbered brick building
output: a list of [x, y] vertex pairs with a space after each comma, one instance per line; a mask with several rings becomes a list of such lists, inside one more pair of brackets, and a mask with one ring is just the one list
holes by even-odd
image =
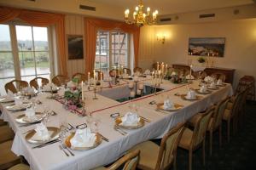
[[116, 65], [129, 67], [128, 34], [122, 31], [98, 31], [95, 69], [108, 74]]

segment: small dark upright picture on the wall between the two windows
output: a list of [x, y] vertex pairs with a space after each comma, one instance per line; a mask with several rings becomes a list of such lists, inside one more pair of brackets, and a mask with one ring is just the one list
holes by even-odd
[[84, 59], [82, 35], [67, 35], [68, 59]]

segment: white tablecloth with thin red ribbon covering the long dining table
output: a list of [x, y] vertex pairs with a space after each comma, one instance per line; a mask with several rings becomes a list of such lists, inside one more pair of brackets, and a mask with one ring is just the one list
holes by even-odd
[[[17, 156], [24, 156], [28, 161], [31, 169], [38, 170], [84, 170], [108, 165], [124, 155], [132, 146], [147, 141], [148, 139], [160, 139], [178, 122], [185, 122], [191, 116], [200, 111], [205, 111], [210, 105], [216, 104], [220, 99], [233, 94], [230, 84], [226, 83], [224, 87], [212, 90], [211, 94], [198, 94], [201, 99], [190, 101], [184, 100], [180, 94], [187, 94], [189, 88], [199, 88], [199, 82], [193, 81], [191, 84], [174, 84], [164, 80], [160, 83], [163, 90], [156, 94], [148, 94], [137, 99], [131, 99], [125, 102], [118, 102], [115, 98], [120, 94], [127, 95], [130, 92], [128, 83], [131, 81], [120, 82], [117, 86], [102, 88], [96, 94], [98, 99], [93, 99], [94, 92], [86, 90], [85, 108], [90, 112], [96, 120], [98, 120], [98, 131], [109, 142], [102, 140], [96, 148], [91, 150], [72, 150], [75, 156], [65, 156], [58, 145], [60, 143], [49, 144], [43, 148], [32, 149], [35, 144], [26, 141], [26, 131], [36, 127], [31, 125], [20, 127], [16, 122], [16, 117], [24, 114], [24, 111], [12, 112], [5, 107], [9, 104], [0, 104], [2, 118], [5, 122], [9, 122], [9, 126], [15, 131], [15, 139], [12, 145], [12, 151]], [[150, 81], [144, 78], [140, 80], [144, 86], [150, 86]], [[126, 93], [126, 94], [125, 94]], [[63, 95], [63, 90], [59, 91]], [[35, 98], [42, 102], [42, 105], [36, 106], [36, 111], [44, 111], [46, 108], [55, 111], [56, 116], [50, 116], [47, 126], [60, 127], [61, 122], [66, 121], [73, 126], [77, 126], [86, 122], [87, 116], [79, 116], [67, 111], [63, 105], [55, 99], [48, 99], [51, 95], [48, 93], [38, 94]], [[183, 108], [177, 111], [159, 111], [156, 105], [150, 102], [162, 103], [169, 97], [172, 102], [183, 105]], [[136, 105], [137, 114], [147, 118], [150, 122], [145, 122], [143, 127], [137, 129], [125, 129], [126, 135], [115, 131], [114, 119], [110, 116], [113, 113], [119, 113], [124, 116], [126, 112], [131, 111], [131, 105]]]

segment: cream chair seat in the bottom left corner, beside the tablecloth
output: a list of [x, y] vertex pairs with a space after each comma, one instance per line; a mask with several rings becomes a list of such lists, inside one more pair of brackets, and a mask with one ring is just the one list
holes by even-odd
[[0, 144], [0, 170], [13, 167], [20, 163], [20, 156], [16, 156], [11, 147], [13, 145], [13, 140], [9, 140]]

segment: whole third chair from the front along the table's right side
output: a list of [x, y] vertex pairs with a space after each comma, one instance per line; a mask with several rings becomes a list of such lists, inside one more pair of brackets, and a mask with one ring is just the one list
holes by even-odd
[[197, 150], [202, 145], [202, 158], [203, 165], [205, 165], [205, 146], [206, 146], [206, 133], [207, 127], [214, 112], [214, 107], [210, 107], [206, 112], [199, 113], [196, 116], [195, 128], [190, 130], [185, 127], [183, 135], [179, 141], [178, 147], [184, 150], [189, 150], [189, 170], [192, 170], [192, 154], [194, 150]]

